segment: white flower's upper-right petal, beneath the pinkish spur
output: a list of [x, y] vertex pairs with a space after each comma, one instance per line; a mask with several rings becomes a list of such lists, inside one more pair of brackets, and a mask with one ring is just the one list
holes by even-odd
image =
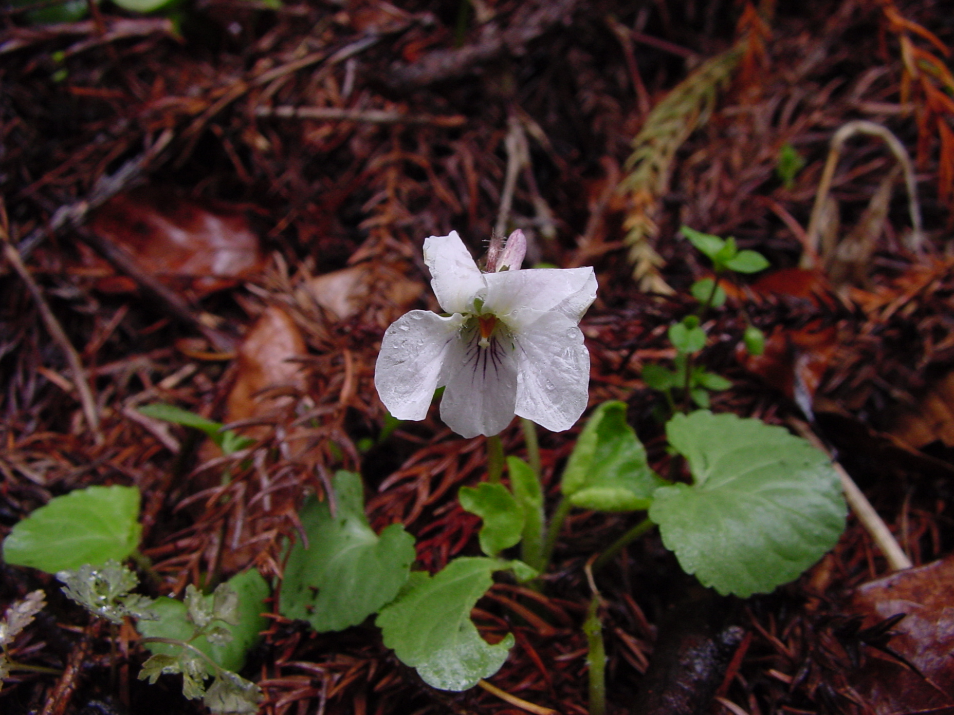
[[540, 313], [558, 311], [576, 322], [596, 297], [596, 277], [585, 268], [535, 268], [487, 274], [485, 310], [517, 331]]

